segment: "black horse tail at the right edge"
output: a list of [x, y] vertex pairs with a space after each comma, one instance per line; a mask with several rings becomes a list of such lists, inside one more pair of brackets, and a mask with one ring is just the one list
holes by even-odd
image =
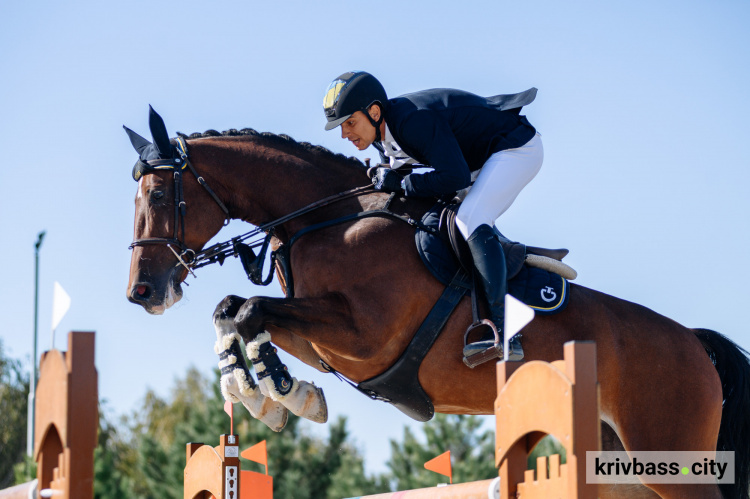
[[750, 361], [742, 347], [723, 334], [694, 329], [721, 379], [724, 406], [718, 451], [734, 451], [734, 483], [720, 485], [725, 498], [750, 497]]

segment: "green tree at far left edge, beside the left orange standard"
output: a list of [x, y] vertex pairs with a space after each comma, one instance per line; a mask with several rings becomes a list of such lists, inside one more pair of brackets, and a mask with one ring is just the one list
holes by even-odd
[[16, 482], [14, 466], [24, 462], [28, 400], [29, 374], [5, 356], [0, 341], [0, 489]]

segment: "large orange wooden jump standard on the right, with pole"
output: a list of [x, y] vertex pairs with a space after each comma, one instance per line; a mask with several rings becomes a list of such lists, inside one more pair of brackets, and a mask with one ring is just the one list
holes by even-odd
[[[495, 400], [495, 464], [498, 478], [442, 487], [406, 490], [352, 499], [595, 499], [597, 486], [586, 484], [586, 451], [600, 449], [596, 345], [568, 342], [564, 360], [552, 363], [498, 362]], [[536, 473], [526, 469], [529, 453], [545, 435], [565, 447], [560, 456], [537, 459]], [[549, 465], [549, 473], [547, 472]]]

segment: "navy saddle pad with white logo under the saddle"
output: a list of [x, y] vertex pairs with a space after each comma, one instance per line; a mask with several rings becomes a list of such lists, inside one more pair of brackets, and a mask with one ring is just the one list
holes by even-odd
[[[450, 283], [458, 270], [458, 261], [447, 241], [439, 235], [440, 211], [437, 205], [422, 218], [427, 230], [418, 227], [415, 239], [417, 251], [425, 266], [437, 280]], [[508, 281], [508, 293], [530, 306], [539, 315], [562, 311], [568, 303], [568, 280], [555, 273], [524, 265]]]

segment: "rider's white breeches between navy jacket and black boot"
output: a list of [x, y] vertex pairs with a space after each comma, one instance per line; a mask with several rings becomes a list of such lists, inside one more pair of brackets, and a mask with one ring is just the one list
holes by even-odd
[[487, 159], [458, 209], [456, 225], [465, 238], [482, 224], [492, 225], [542, 168], [544, 148], [539, 133], [521, 147]]

